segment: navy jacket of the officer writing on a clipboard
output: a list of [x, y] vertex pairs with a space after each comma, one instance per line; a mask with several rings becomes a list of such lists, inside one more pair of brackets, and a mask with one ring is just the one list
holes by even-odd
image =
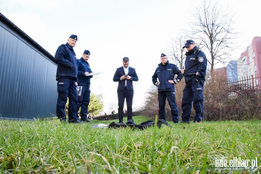
[[84, 73], [88, 72], [88, 73], [93, 73], [92, 70], [90, 69], [90, 65], [88, 63], [88, 61], [85, 61], [82, 57], [81, 59], [77, 60], [77, 66], [78, 66], [78, 85], [85, 85], [90, 87], [90, 78], [92, 78], [93, 76], [85, 76]]

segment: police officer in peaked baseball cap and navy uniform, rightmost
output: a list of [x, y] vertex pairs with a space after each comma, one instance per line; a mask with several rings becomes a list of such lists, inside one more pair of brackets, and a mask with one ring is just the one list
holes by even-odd
[[191, 115], [191, 106], [196, 115], [194, 123], [203, 122], [203, 86], [206, 77], [207, 60], [206, 55], [201, 50], [198, 50], [193, 40], [187, 40], [182, 48], [187, 49], [185, 67], [181, 70], [185, 78], [185, 88], [182, 97], [182, 123], [189, 124]]

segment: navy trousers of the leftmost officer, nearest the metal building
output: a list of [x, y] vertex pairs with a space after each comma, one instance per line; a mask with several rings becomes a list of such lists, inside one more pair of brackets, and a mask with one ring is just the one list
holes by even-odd
[[59, 78], [57, 82], [58, 99], [56, 114], [59, 119], [66, 119], [65, 104], [69, 98], [68, 117], [69, 122], [76, 120], [77, 90], [74, 79]]

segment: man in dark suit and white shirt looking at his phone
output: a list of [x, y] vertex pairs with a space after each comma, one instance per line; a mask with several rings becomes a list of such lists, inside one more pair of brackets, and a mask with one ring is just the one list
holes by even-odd
[[124, 101], [126, 98], [127, 104], [127, 121], [133, 122], [132, 119], [132, 100], [133, 100], [133, 84], [132, 81], [138, 81], [139, 78], [134, 68], [129, 67], [129, 58], [124, 57], [122, 60], [123, 66], [117, 68], [114, 76], [113, 81], [118, 81], [118, 118], [119, 123], [123, 123], [123, 108], [124, 108]]

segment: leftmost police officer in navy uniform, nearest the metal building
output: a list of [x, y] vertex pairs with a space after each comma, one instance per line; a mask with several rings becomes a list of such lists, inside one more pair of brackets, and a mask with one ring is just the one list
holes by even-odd
[[59, 46], [55, 53], [57, 63], [57, 91], [58, 99], [56, 114], [61, 122], [66, 122], [65, 104], [69, 98], [68, 117], [69, 123], [82, 123], [76, 117], [77, 104], [77, 59], [73, 47], [77, 42], [77, 35], [71, 35], [66, 44]]

